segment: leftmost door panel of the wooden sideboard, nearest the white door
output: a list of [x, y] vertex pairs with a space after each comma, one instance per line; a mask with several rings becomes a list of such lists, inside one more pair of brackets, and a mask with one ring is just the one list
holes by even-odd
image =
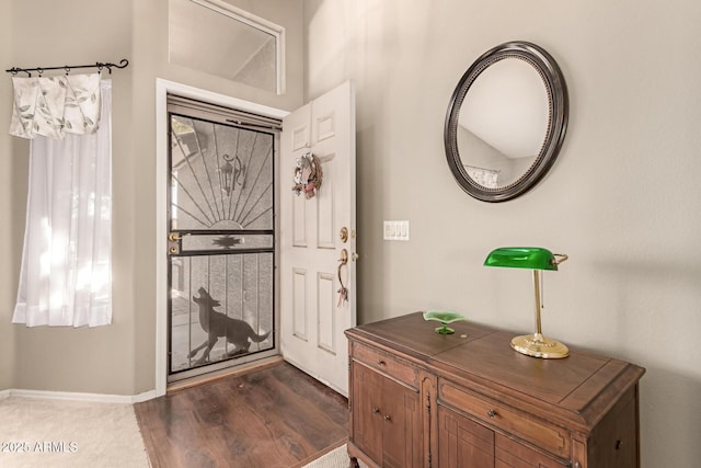
[[382, 455], [382, 380], [378, 373], [353, 364], [353, 442], [374, 460]]

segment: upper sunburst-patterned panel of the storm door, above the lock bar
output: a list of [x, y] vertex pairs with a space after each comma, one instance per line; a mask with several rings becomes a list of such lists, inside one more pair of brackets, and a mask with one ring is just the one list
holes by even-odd
[[273, 140], [171, 115], [171, 230], [273, 229]]

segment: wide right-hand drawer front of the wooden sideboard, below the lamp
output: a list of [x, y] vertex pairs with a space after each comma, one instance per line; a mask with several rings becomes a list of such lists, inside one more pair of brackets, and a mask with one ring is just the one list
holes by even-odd
[[570, 433], [526, 413], [478, 396], [447, 380], [438, 385], [438, 398], [484, 423], [528, 441], [563, 458], [570, 458]]

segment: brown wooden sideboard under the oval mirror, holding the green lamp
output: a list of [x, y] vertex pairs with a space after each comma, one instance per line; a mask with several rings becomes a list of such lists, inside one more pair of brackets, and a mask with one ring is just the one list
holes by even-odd
[[426, 468], [640, 466], [645, 369], [586, 352], [539, 359], [512, 333], [421, 312], [346, 331], [352, 465]]

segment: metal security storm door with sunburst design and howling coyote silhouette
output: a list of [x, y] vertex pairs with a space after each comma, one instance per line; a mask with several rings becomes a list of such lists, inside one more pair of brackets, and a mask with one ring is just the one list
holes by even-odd
[[279, 121], [168, 96], [169, 381], [277, 354]]

